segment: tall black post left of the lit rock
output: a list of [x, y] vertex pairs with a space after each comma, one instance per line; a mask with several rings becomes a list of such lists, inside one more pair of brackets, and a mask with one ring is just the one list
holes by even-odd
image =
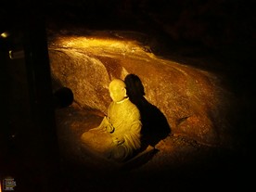
[[32, 161], [37, 191], [58, 191], [58, 138], [55, 125], [45, 20], [30, 12], [24, 24], [24, 53], [32, 111]]

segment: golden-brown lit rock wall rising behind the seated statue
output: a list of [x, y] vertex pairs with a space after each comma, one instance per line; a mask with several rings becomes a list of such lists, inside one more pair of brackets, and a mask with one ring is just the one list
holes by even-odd
[[205, 70], [158, 58], [141, 42], [143, 35], [123, 32], [49, 33], [52, 76], [69, 87], [83, 109], [106, 112], [111, 79], [129, 73], [142, 81], [147, 101], [165, 115], [173, 134], [210, 146], [232, 142], [227, 113], [230, 94], [221, 78]]

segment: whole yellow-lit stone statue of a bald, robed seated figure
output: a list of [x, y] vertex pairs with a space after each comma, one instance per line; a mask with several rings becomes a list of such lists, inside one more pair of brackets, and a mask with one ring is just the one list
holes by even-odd
[[82, 144], [104, 158], [123, 162], [141, 148], [140, 112], [126, 95], [122, 80], [109, 83], [109, 94], [112, 102], [108, 115], [96, 128], [82, 134]]

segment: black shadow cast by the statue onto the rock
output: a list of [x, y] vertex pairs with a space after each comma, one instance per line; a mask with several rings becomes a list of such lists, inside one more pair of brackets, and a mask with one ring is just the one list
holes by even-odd
[[135, 74], [125, 77], [127, 95], [141, 113], [142, 135], [144, 144], [156, 146], [161, 139], [171, 134], [171, 127], [164, 114], [145, 98], [144, 86]]

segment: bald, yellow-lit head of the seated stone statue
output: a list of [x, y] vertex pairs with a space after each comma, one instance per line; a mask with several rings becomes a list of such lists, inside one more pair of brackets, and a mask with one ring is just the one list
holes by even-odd
[[127, 97], [125, 87], [121, 79], [114, 79], [109, 83], [109, 94], [114, 102], [122, 101]]

